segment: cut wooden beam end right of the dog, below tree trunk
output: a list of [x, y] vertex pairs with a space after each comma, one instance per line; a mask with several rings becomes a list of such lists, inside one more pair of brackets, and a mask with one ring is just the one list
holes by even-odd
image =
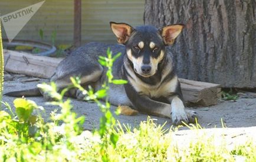
[[179, 81], [188, 106], [211, 106], [221, 97], [221, 85], [181, 78]]

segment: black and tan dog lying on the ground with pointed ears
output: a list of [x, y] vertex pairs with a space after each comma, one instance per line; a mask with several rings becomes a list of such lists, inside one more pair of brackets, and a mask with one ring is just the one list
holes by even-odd
[[[125, 85], [110, 85], [109, 101], [118, 106], [130, 106], [139, 112], [164, 116], [175, 125], [195, 121], [196, 112], [185, 110], [178, 76], [166, 46], [172, 45], [184, 25], [168, 25], [161, 29], [143, 25], [133, 28], [127, 23], [110, 22], [117, 37], [116, 45], [87, 43], [75, 49], [57, 66], [51, 81], [58, 89], [71, 85], [70, 77], [80, 76], [81, 85], [100, 89], [106, 79], [106, 67], [97, 61], [110, 48], [113, 53], [122, 52], [113, 65], [113, 76], [127, 80]], [[72, 92], [83, 99], [80, 90]], [[7, 96], [49, 96], [39, 89], [9, 92]], [[72, 94], [70, 94], [72, 95]]]

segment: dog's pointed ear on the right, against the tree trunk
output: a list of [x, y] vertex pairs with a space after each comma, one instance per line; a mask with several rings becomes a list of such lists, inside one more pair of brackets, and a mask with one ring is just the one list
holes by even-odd
[[165, 45], [172, 45], [175, 41], [175, 38], [179, 35], [185, 25], [183, 24], [175, 24], [175, 25], [168, 25], [159, 29], [160, 34], [162, 35], [163, 42]]

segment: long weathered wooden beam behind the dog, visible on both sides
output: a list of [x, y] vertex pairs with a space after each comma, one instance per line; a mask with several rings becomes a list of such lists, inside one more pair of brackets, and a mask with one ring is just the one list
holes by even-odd
[[[4, 50], [5, 70], [28, 76], [50, 79], [63, 58], [35, 56], [24, 52]], [[185, 102], [189, 106], [209, 106], [218, 102], [220, 85], [180, 79]]]

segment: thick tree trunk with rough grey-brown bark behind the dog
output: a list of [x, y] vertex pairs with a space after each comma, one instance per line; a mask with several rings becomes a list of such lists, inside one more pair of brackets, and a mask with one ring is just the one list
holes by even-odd
[[146, 0], [144, 21], [186, 28], [169, 49], [179, 77], [256, 87], [255, 0]]

